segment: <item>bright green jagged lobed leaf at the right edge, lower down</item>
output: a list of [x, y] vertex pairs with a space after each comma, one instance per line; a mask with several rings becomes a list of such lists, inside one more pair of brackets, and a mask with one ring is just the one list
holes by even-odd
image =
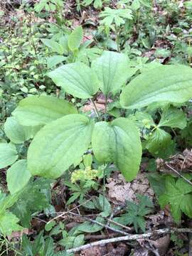
[[166, 176], [166, 190], [159, 196], [159, 203], [161, 208], [166, 204], [171, 206], [171, 215], [178, 223], [181, 220], [181, 213], [185, 213], [189, 218], [192, 218], [192, 186], [183, 178], [177, 180], [172, 176]]

